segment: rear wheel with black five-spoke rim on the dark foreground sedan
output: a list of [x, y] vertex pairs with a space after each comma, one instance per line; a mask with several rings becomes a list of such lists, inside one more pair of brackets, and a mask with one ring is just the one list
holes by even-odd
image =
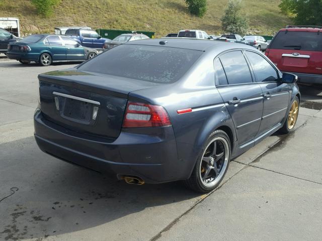
[[230, 154], [231, 145], [228, 135], [222, 130], [211, 133], [190, 178], [185, 181], [186, 185], [200, 193], [207, 193], [218, 187], [228, 170]]

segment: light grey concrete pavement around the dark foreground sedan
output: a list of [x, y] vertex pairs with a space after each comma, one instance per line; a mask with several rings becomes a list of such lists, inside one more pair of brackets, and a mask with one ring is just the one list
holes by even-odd
[[322, 111], [300, 108], [292, 134], [232, 160], [210, 194], [181, 182], [128, 185], [35, 143], [37, 75], [74, 65], [0, 57], [0, 240], [321, 239]]

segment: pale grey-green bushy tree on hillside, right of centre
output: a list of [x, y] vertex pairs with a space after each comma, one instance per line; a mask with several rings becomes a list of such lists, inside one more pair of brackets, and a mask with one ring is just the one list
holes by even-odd
[[221, 18], [222, 29], [225, 32], [240, 35], [245, 35], [248, 32], [248, 20], [239, 14], [240, 9], [239, 0], [229, 0], [225, 13]]

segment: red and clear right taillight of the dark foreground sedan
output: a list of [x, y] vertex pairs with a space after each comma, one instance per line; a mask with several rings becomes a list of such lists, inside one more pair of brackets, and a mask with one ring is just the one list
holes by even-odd
[[171, 126], [171, 122], [164, 107], [138, 102], [127, 103], [123, 128], [166, 126]]

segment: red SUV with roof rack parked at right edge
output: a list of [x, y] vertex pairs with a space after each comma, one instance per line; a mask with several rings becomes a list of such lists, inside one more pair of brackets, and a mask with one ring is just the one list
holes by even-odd
[[274, 37], [265, 55], [298, 82], [322, 84], [322, 27], [286, 26]]

